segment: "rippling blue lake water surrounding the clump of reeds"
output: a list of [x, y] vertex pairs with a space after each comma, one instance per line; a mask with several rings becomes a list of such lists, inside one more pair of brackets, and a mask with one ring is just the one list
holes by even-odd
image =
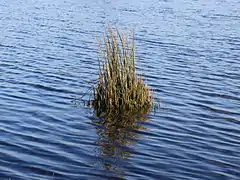
[[[107, 25], [134, 29], [160, 109], [107, 128], [77, 102]], [[240, 179], [238, 0], [0, 0], [0, 179]]]

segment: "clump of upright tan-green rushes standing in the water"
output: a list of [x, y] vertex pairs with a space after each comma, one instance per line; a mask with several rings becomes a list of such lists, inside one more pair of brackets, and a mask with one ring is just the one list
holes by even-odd
[[153, 93], [136, 73], [134, 33], [129, 34], [108, 28], [100, 42], [103, 61], [93, 100], [97, 116], [139, 116], [152, 107]]

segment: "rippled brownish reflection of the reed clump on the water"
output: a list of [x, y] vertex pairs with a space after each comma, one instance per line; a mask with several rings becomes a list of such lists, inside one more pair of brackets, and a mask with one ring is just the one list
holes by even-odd
[[148, 120], [147, 116], [125, 116], [96, 121], [96, 132], [99, 136], [98, 166], [118, 178], [123, 178], [126, 160], [131, 157], [132, 148], [139, 136], [136, 132], [146, 130], [143, 123]]

